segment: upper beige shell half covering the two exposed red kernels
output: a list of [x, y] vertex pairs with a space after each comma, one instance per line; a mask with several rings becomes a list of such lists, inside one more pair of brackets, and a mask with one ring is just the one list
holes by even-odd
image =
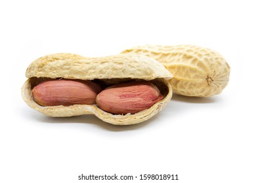
[[[150, 64], [149, 64], [150, 63]], [[76, 54], [51, 54], [33, 61], [26, 77], [75, 78], [81, 80], [107, 78], [172, 78], [161, 63], [138, 54], [118, 54], [102, 58], [86, 58]]]

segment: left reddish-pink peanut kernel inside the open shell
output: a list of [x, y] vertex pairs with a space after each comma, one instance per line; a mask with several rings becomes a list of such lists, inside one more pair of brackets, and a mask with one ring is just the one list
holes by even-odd
[[100, 87], [91, 81], [49, 80], [32, 90], [34, 101], [41, 106], [93, 105]]

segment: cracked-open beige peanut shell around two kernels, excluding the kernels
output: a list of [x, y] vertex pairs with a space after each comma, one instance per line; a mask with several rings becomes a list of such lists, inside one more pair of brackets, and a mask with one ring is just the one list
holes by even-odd
[[[137, 54], [119, 54], [104, 58], [85, 58], [76, 54], [51, 54], [33, 61], [26, 71], [28, 80], [22, 86], [22, 97], [33, 109], [53, 117], [95, 114], [104, 122], [115, 125], [138, 124], [157, 114], [172, 96], [173, 76], [153, 58]], [[152, 107], [135, 114], [111, 114], [97, 105], [71, 105], [68, 107], [42, 107], [33, 101], [32, 89], [45, 78], [100, 80], [116, 84], [126, 80], [149, 80], [155, 84], [164, 98]]]

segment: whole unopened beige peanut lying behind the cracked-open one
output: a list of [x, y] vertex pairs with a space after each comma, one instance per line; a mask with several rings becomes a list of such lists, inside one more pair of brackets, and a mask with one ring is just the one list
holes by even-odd
[[173, 92], [186, 96], [211, 97], [222, 92], [230, 75], [230, 66], [221, 54], [194, 45], [137, 46], [122, 53], [150, 56], [173, 74]]

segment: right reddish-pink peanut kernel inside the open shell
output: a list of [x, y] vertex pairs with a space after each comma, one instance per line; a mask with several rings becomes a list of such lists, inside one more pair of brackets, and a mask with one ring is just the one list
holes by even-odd
[[96, 97], [98, 107], [112, 114], [135, 114], [163, 99], [150, 82], [129, 82], [110, 86]]

